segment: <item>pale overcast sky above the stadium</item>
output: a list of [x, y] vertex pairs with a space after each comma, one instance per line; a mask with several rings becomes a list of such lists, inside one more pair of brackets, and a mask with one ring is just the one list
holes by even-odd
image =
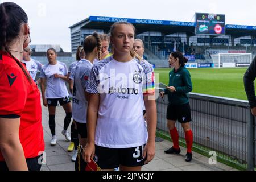
[[[10, 0], [11, 1], [11, 0]], [[0, 2], [6, 2], [0, 0]], [[28, 15], [31, 44], [60, 44], [71, 51], [69, 26], [89, 16], [194, 22], [195, 12], [226, 15], [226, 24], [256, 26], [253, 0], [13, 0]]]

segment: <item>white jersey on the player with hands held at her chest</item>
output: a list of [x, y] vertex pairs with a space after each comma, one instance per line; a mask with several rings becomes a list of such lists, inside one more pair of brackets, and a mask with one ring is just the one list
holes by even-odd
[[68, 68], [65, 63], [57, 61], [57, 64], [43, 65], [40, 78], [46, 78], [46, 98], [63, 98], [69, 96], [65, 81], [61, 78], [55, 78], [53, 75], [68, 75]]

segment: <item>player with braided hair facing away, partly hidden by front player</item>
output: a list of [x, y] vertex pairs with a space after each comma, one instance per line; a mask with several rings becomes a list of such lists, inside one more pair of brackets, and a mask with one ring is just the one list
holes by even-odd
[[[86, 112], [88, 105], [88, 97], [85, 97], [85, 89], [90, 78], [90, 71], [92, 70], [93, 60], [101, 56], [101, 39], [95, 32], [89, 35], [84, 40], [85, 59], [79, 61], [75, 68], [72, 69], [71, 76], [74, 80], [73, 88], [73, 112], [72, 117], [76, 123], [77, 131], [79, 133], [79, 143], [82, 148], [86, 145], [87, 140], [87, 126], [86, 126]], [[79, 165], [80, 164], [80, 165]], [[84, 169], [86, 163], [82, 160], [82, 155], [79, 154], [76, 160], [76, 170]]]

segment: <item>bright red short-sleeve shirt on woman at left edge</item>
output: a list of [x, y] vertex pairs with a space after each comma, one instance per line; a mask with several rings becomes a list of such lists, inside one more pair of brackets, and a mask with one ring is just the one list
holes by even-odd
[[[26, 70], [25, 65], [23, 65]], [[22, 68], [6, 52], [0, 51], [0, 117], [20, 118], [19, 138], [26, 158], [44, 151], [40, 92], [27, 80]], [[4, 160], [0, 152], [0, 160]]]

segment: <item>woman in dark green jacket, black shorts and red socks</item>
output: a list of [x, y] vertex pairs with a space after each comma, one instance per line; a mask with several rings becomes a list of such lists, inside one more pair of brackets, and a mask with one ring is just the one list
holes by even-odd
[[185, 132], [185, 140], [187, 143], [187, 154], [185, 155], [185, 161], [192, 160], [192, 144], [193, 133], [189, 122], [191, 122], [191, 110], [188, 100], [188, 94], [192, 91], [192, 82], [190, 73], [185, 68], [185, 63], [188, 59], [183, 56], [181, 52], [172, 52], [169, 57], [169, 64], [172, 71], [169, 73], [169, 86], [164, 92], [160, 93], [163, 97], [164, 94], [168, 94], [169, 104], [167, 107], [167, 126], [170, 130], [170, 135], [174, 146], [165, 150], [167, 154], [180, 154], [179, 147], [179, 133], [175, 127], [176, 120], [181, 123]]

